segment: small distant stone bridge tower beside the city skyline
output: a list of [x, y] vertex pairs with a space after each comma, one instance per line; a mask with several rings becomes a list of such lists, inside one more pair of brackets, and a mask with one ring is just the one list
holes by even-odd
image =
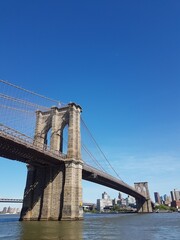
[[137, 211], [139, 213], [152, 212], [152, 204], [147, 182], [134, 183], [135, 189], [145, 196], [145, 199], [136, 199]]

